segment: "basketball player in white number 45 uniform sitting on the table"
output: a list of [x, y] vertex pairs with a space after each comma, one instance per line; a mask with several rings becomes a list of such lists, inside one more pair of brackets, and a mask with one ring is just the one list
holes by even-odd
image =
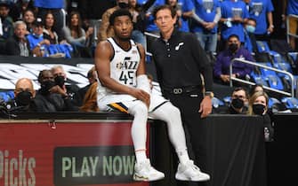
[[131, 40], [132, 15], [118, 10], [109, 18], [115, 36], [97, 45], [95, 66], [99, 74], [98, 106], [101, 111], [118, 110], [133, 115], [132, 137], [136, 163], [133, 180], [156, 181], [165, 174], [151, 167], [146, 156], [146, 124], [148, 117], [164, 120], [169, 138], [180, 164], [176, 179], [183, 181], [209, 180], [189, 159], [181, 113], [164, 97], [150, 94], [149, 79], [145, 70], [145, 51], [141, 44]]

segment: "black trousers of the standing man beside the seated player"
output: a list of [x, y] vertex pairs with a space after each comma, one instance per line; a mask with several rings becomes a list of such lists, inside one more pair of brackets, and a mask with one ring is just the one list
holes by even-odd
[[[197, 95], [194, 96], [194, 95]], [[198, 112], [200, 103], [203, 99], [202, 90], [197, 89], [191, 93], [174, 95], [173, 93], [164, 92], [164, 96], [168, 98], [173, 105], [178, 107], [181, 111], [181, 118], [188, 141], [189, 154], [194, 155], [195, 164], [205, 172], [206, 169], [206, 136], [205, 125], [202, 124], [201, 114]], [[174, 167], [177, 167], [178, 159], [174, 155]], [[199, 183], [204, 185], [205, 182]], [[177, 182], [177, 185], [189, 185], [189, 182]], [[198, 184], [196, 184], [198, 185]]]

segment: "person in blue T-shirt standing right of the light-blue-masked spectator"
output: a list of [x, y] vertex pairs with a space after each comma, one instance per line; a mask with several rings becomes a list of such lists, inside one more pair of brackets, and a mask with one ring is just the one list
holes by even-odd
[[268, 36], [273, 32], [274, 11], [271, 0], [251, 0], [249, 4], [249, 16], [256, 20], [254, 35], [256, 40], [268, 41]]

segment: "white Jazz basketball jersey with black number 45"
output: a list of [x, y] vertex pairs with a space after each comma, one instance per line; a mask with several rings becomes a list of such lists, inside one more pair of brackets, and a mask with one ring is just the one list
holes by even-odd
[[141, 55], [137, 45], [130, 41], [129, 50], [122, 49], [113, 38], [108, 39], [114, 48], [114, 57], [110, 61], [110, 77], [126, 86], [136, 87], [136, 71]]

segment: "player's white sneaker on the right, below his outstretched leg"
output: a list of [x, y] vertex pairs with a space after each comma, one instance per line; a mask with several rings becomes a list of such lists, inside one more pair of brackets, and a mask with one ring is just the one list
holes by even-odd
[[201, 172], [194, 162], [189, 160], [184, 165], [179, 163], [175, 178], [181, 181], [203, 182], [210, 180], [210, 175]]

